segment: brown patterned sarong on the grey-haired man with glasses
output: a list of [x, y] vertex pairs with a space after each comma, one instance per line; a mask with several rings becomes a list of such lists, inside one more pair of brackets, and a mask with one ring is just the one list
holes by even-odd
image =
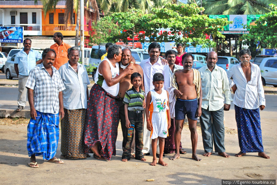
[[83, 130], [86, 120], [86, 109], [64, 110], [61, 120], [61, 152], [70, 159], [85, 159]]

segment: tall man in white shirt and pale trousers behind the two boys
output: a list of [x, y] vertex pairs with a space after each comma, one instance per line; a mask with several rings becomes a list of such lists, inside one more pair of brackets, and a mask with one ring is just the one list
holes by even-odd
[[[162, 73], [164, 76], [164, 85], [163, 89], [167, 89], [170, 86], [170, 69], [168, 65], [163, 65], [159, 54], [161, 53], [161, 46], [157, 42], [152, 42], [148, 46], [149, 58], [141, 61], [140, 66], [143, 69], [143, 81], [144, 81], [144, 90], [147, 94], [150, 90], [154, 89], [153, 85], [153, 75], [155, 73]], [[146, 155], [149, 155], [150, 150], [150, 134], [151, 132], [147, 130], [146, 123], [144, 123], [143, 128], [143, 150], [142, 152]], [[158, 148], [159, 146], [157, 146]], [[157, 151], [159, 154], [159, 151]]]

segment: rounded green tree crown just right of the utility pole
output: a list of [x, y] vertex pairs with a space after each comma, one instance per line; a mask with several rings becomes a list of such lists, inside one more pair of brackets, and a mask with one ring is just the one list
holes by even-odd
[[93, 27], [94, 32], [90, 33], [90, 43], [100, 44], [102, 42], [116, 42], [119, 33], [119, 27], [110, 22], [110, 20], [103, 18], [97, 22], [97, 25]]

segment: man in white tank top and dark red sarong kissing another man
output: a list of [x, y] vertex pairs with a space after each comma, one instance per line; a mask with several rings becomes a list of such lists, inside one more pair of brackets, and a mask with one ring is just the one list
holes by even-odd
[[95, 84], [90, 90], [84, 142], [85, 152], [91, 153], [91, 150], [96, 159], [110, 160], [115, 155], [119, 123], [119, 107], [115, 97], [119, 90], [118, 82], [133, 73], [130, 65], [130, 68], [119, 74], [118, 62], [121, 61], [121, 55], [119, 45], [109, 47], [107, 57], [98, 66]]

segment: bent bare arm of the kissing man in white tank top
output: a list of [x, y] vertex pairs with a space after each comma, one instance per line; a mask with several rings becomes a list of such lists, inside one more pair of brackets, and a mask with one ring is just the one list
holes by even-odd
[[123, 70], [123, 73], [119, 74], [117, 77], [112, 78], [110, 65], [108, 61], [105, 60], [100, 63], [98, 68], [98, 71], [102, 74], [109, 87], [117, 84], [123, 77], [133, 74], [133, 69], [125, 69]]

